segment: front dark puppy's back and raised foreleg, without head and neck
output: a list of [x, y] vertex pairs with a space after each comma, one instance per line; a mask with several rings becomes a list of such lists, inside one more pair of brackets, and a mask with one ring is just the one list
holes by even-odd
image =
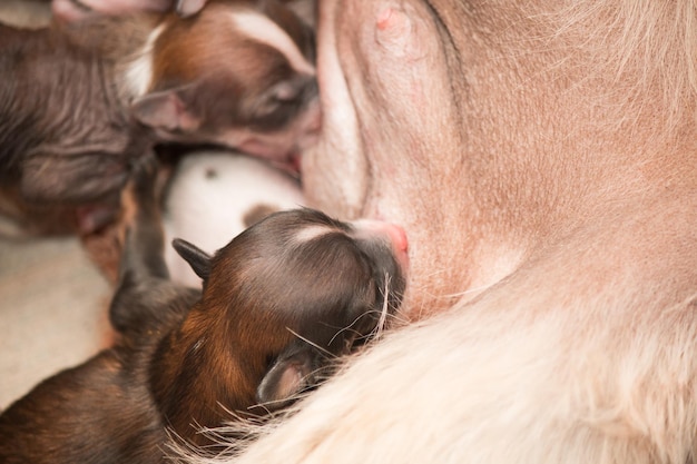
[[[158, 444], [166, 432], [148, 387], [149, 363], [160, 330], [180, 322], [199, 292], [177, 288], [166, 279], [166, 268], [157, 259], [163, 247], [157, 208], [150, 196], [141, 199], [147, 203], [141, 201], [143, 210], [128, 234], [121, 288], [110, 314], [117, 342], [85, 364], [46, 379], [0, 415], [0, 462], [161, 460]], [[144, 292], [147, 288], [153, 292]]]

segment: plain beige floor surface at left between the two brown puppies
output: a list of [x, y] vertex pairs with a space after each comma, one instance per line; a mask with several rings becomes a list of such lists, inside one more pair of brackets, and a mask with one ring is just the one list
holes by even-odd
[[108, 344], [110, 295], [76, 238], [0, 238], [0, 409]]

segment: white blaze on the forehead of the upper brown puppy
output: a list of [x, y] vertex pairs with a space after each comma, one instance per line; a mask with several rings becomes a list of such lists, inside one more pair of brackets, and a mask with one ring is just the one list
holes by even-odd
[[315, 67], [305, 59], [291, 36], [269, 18], [255, 11], [237, 11], [232, 13], [232, 19], [237, 30], [282, 52], [293, 69], [305, 75], [315, 75]]

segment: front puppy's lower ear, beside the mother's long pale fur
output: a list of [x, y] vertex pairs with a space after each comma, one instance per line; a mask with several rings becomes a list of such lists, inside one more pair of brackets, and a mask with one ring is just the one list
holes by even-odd
[[271, 411], [277, 409], [312, 386], [313, 358], [310, 346], [293, 347], [278, 356], [256, 389], [257, 401]]

